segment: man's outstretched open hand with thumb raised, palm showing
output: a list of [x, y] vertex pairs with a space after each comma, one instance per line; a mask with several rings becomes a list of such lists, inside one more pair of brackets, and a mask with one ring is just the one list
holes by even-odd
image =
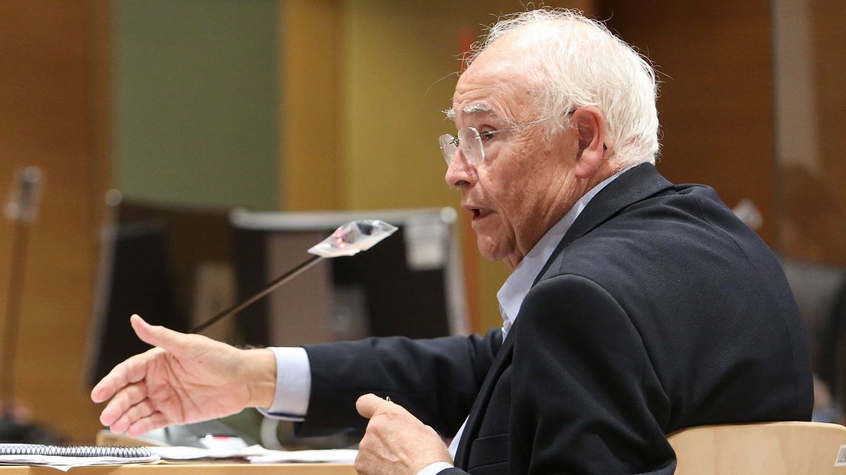
[[270, 350], [239, 350], [130, 318], [138, 337], [154, 348], [118, 364], [91, 390], [107, 401], [100, 422], [137, 437], [177, 423], [222, 418], [244, 407], [269, 407], [276, 384]]

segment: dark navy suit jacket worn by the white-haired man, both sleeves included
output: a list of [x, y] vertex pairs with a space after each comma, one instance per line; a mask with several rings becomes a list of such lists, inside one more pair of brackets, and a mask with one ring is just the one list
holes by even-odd
[[591, 200], [499, 335], [307, 347], [300, 434], [364, 427], [354, 401], [375, 392], [446, 436], [470, 414], [444, 473], [672, 473], [675, 430], [810, 418], [772, 252], [711, 188], [651, 165]]

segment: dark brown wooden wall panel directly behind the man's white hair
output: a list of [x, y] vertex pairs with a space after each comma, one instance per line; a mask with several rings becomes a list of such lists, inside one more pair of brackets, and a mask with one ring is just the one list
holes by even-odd
[[776, 159], [768, 0], [604, 0], [600, 17], [653, 63], [662, 81], [658, 170], [705, 183], [729, 206], [750, 199], [776, 241]]

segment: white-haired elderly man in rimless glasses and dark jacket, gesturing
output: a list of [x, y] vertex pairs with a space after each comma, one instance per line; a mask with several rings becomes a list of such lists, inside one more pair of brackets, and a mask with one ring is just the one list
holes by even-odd
[[102, 423], [135, 435], [265, 407], [300, 434], [366, 424], [363, 473], [607, 474], [672, 473], [666, 434], [684, 427], [809, 418], [776, 259], [713, 190], [652, 165], [648, 63], [545, 9], [504, 19], [480, 50], [440, 145], [481, 254], [514, 269], [502, 330], [237, 350], [133, 317], [157, 348], [92, 391], [112, 398]]

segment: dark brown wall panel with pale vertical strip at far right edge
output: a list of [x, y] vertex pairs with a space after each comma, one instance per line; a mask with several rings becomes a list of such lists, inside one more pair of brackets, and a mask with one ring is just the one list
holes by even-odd
[[[780, 130], [794, 145], [781, 150], [781, 248], [787, 256], [846, 265], [846, 3], [782, 1], [784, 28], [804, 35], [804, 49], [783, 55], [787, 102]], [[794, 9], [802, 9], [799, 14]], [[791, 45], [786, 45], [791, 46]], [[801, 56], [799, 56], [801, 55]], [[798, 70], [798, 68], [801, 68]], [[804, 81], [797, 87], [798, 81]], [[796, 123], [796, 121], [803, 121]], [[797, 133], [808, 130], [804, 135]], [[796, 146], [799, 142], [800, 146]], [[804, 145], [804, 146], [802, 146]]]

